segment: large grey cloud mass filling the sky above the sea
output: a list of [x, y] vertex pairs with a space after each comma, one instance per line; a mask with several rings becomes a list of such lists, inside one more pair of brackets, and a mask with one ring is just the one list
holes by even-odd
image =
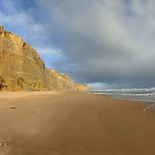
[[[137, 85], [148, 85], [151, 79], [155, 84], [155, 13], [151, 7], [155, 2], [53, 0], [46, 4], [40, 0], [40, 3], [48, 8], [52, 21], [58, 25], [56, 32], [60, 31], [65, 38], [67, 59], [63, 65], [70, 64], [70, 73], [68, 69], [67, 72], [74, 79]], [[54, 33], [52, 25], [50, 28]]]

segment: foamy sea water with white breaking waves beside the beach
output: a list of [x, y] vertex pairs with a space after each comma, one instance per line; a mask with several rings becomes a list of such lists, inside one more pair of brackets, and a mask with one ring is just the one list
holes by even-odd
[[128, 89], [102, 89], [90, 91], [94, 94], [104, 94], [113, 98], [141, 101], [155, 107], [155, 87], [128, 88]]

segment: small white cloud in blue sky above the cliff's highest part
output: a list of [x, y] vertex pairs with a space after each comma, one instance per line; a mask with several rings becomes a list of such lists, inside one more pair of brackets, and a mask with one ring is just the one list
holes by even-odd
[[[16, 9], [16, 3], [12, 0], [1, 0], [3, 10], [0, 10], [0, 23], [3, 25], [11, 25], [12, 27], [20, 27], [23, 33], [43, 35], [45, 29], [43, 24], [34, 20], [33, 11], [27, 11], [22, 8]], [[18, 1], [17, 1], [18, 3]], [[30, 8], [30, 10], [33, 10]]]

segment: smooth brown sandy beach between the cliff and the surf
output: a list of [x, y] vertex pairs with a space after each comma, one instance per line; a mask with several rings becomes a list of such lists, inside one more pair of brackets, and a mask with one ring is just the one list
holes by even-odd
[[0, 155], [155, 154], [155, 111], [143, 111], [142, 103], [75, 92], [0, 93]]

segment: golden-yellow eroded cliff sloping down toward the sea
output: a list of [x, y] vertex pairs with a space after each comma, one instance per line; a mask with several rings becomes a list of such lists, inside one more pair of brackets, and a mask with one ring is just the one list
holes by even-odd
[[35, 49], [21, 37], [4, 30], [2, 26], [0, 26], [0, 89], [80, 90], [69, 76], [48, 69]]

